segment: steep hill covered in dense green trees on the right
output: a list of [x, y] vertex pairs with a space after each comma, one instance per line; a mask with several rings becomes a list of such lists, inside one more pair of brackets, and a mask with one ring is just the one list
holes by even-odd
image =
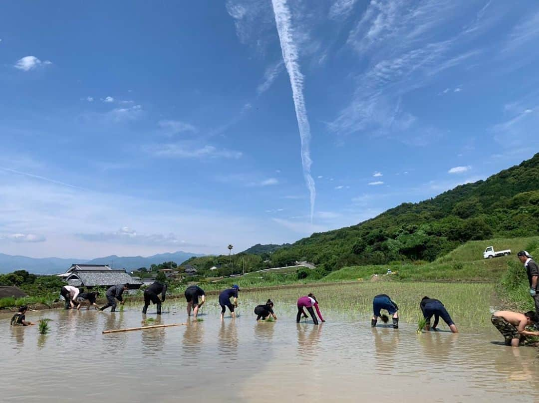
[[486, 180], [457, 186], [420, 203], [401, 204], [358, 225], [314, 233], [278, 249], [271, 259], [273, 266], [308, 260], [330, 272], [391, 261], [434, 261], [470, 240], [538, 234], [536, 154]]

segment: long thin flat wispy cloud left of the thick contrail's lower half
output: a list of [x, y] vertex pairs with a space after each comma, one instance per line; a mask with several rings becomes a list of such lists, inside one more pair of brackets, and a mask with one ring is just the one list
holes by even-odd
[[218, 149], [213, 145], [197, 147], [188, 142], [178, 142], [170, 144], [157, 144], [145, 148], [147, 152], [155, 157], [170, 158], [241, 158], [241, 151]]

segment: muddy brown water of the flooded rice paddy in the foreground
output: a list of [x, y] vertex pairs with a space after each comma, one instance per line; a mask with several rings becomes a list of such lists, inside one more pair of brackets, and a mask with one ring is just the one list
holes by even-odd
[[[497, 344], [492, 326], [416, 335], [414, 324], [371, 329], [338, 310], [323, 310], [320, 326], [296, 324], [292, 303], [256, 323], [255, 304], [241, 301], [224, 323], [209, 303], [203, 322], [111, 335], [101, 331], [140, 326], [141, 307], [28, 314], [53, 319], [45, 336], [2, 314], [0, 400], [539, 401], [536, 349]], [[185, 321], [184, 304], [167, 309], [155, 324]]]

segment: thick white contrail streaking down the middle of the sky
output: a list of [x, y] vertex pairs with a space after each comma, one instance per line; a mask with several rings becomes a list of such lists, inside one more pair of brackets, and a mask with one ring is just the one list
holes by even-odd
[[310, 165], [313, 161], [310, 159], [310, 126], [307, 118], [307, 109], [305, 108], [305, 98], [303, 98], [303, 74], [300, 71], [298, 49], [294, 43], [291, 26], [291, 13], [286, 0], [272, 0], [272, 4], [273, 13], [275, 14], [275, 24], [277, 25], [277, 32], [279, 33], [279, 41], [281, 43], [282, 58], [285, 61], [286, 70], [288, 71], [292, 86], [292, 98], [294, 99], [296, 118], [298, 119], [298, 128], [301, 137], [303, 176], [305, 176], [305, 182], [310, 192], [310, 221], [312, 223], [316, 187], [314, 179], [310, 175]]

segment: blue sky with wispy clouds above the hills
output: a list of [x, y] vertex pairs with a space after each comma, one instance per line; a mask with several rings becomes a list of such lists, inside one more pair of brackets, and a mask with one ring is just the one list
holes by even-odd
[[239, 252], [538, 150], [535, 1], [46, 2], [0, 13], [0, 252]]

